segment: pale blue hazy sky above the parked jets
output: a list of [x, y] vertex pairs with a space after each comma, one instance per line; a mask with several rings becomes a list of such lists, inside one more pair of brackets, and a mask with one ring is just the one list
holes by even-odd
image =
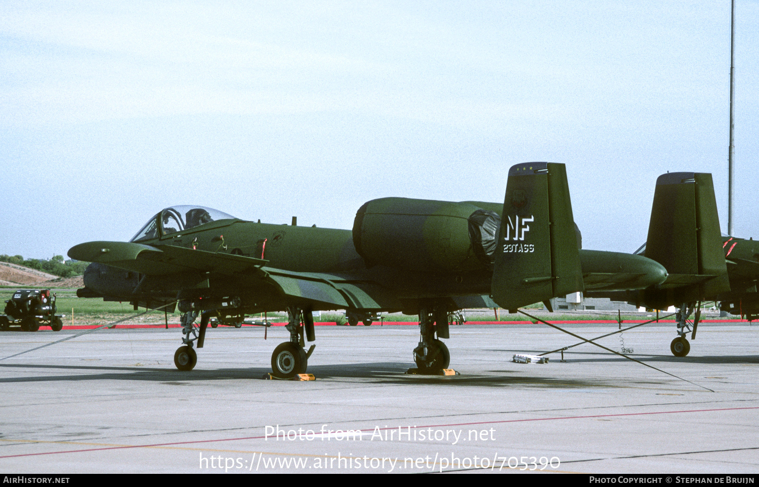
[[[735, 234], [759, 237], [759, 2], [738, 0]], [[128, 240], [165, 206], [351, 228], [367, 200], [502, 201], [567, 165], [584, 247], [712, 172], [729, 0], [0, 2], [0, 253]]]

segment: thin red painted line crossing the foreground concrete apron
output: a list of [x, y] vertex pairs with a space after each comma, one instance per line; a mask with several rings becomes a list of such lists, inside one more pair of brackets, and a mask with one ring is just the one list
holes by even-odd
[[[504, 419], [502, 421], [478, 421], [474, 423], [451, 423], [451, 424], [442, 424], [442, 425], [413, 426], [413, 429], [445, 428], [449, 426], [490, 425], [490, 424], [501, 424], [501, 423], [524, 423], [528, 421], [555, 421], [558, 419], [612, 418], [612, 417], [621, 417], [621, 416], [647, 416], [647, 415], [652, 415], [652, 414], [674, 414], [674, 413], [711, 413], [715, 411], [739, 411], [739, 410], [754, 410], [754, 409], [759, 409], [759, 407], [723, 407], [720, 409], [652, 411], [650, 413], [593, 414], [589, 416], [556, 416], [556, 417], [550, 417], [550, 418]], [[398, 428], [403, 428], [403, 427], [405, 426], [398, 426]], [[411, 427], [411, 426], [408, 426], [408, 427]], [[395, 427], [379, 428], [380, 431], [385, 431], [389, 429], [395, 429]], [[360, 429], [358, 431], [361, 431], [361, 432], [376, 431], [376, 428], [375, 429]], [[332, 430], [332, 432], [334, 431]], [[320, 434], [320, 433], [315, 433], [315, 434]], [[264, 436], [244, 436], [241, 438], [219, 438], [216, 440], [174, 441], [172, 443], [152, 443], [148, 445], [124, 445], [124, 446], [117, 446], [117, 447], [84, 448], [81, 450], [43, 451], [42, 453], [3, 455], [3, 456], [0, 456], [0, 458], [36, 457], [38, 455], [54, 455], [54, 454], [61, 454], [61, 453], [84, 453], [87, 451], [124, 450], [127, 448], [156, 448], [156, 447], [175, 446], [175, 445], [197, 445], [200, 443], [218, 443], [219, 441], [257, 440], [261, 438], [266, 438], [266, 436], [265, 435]], [[5, 439], [8, 440], [10, 438], [5, 438]]]

